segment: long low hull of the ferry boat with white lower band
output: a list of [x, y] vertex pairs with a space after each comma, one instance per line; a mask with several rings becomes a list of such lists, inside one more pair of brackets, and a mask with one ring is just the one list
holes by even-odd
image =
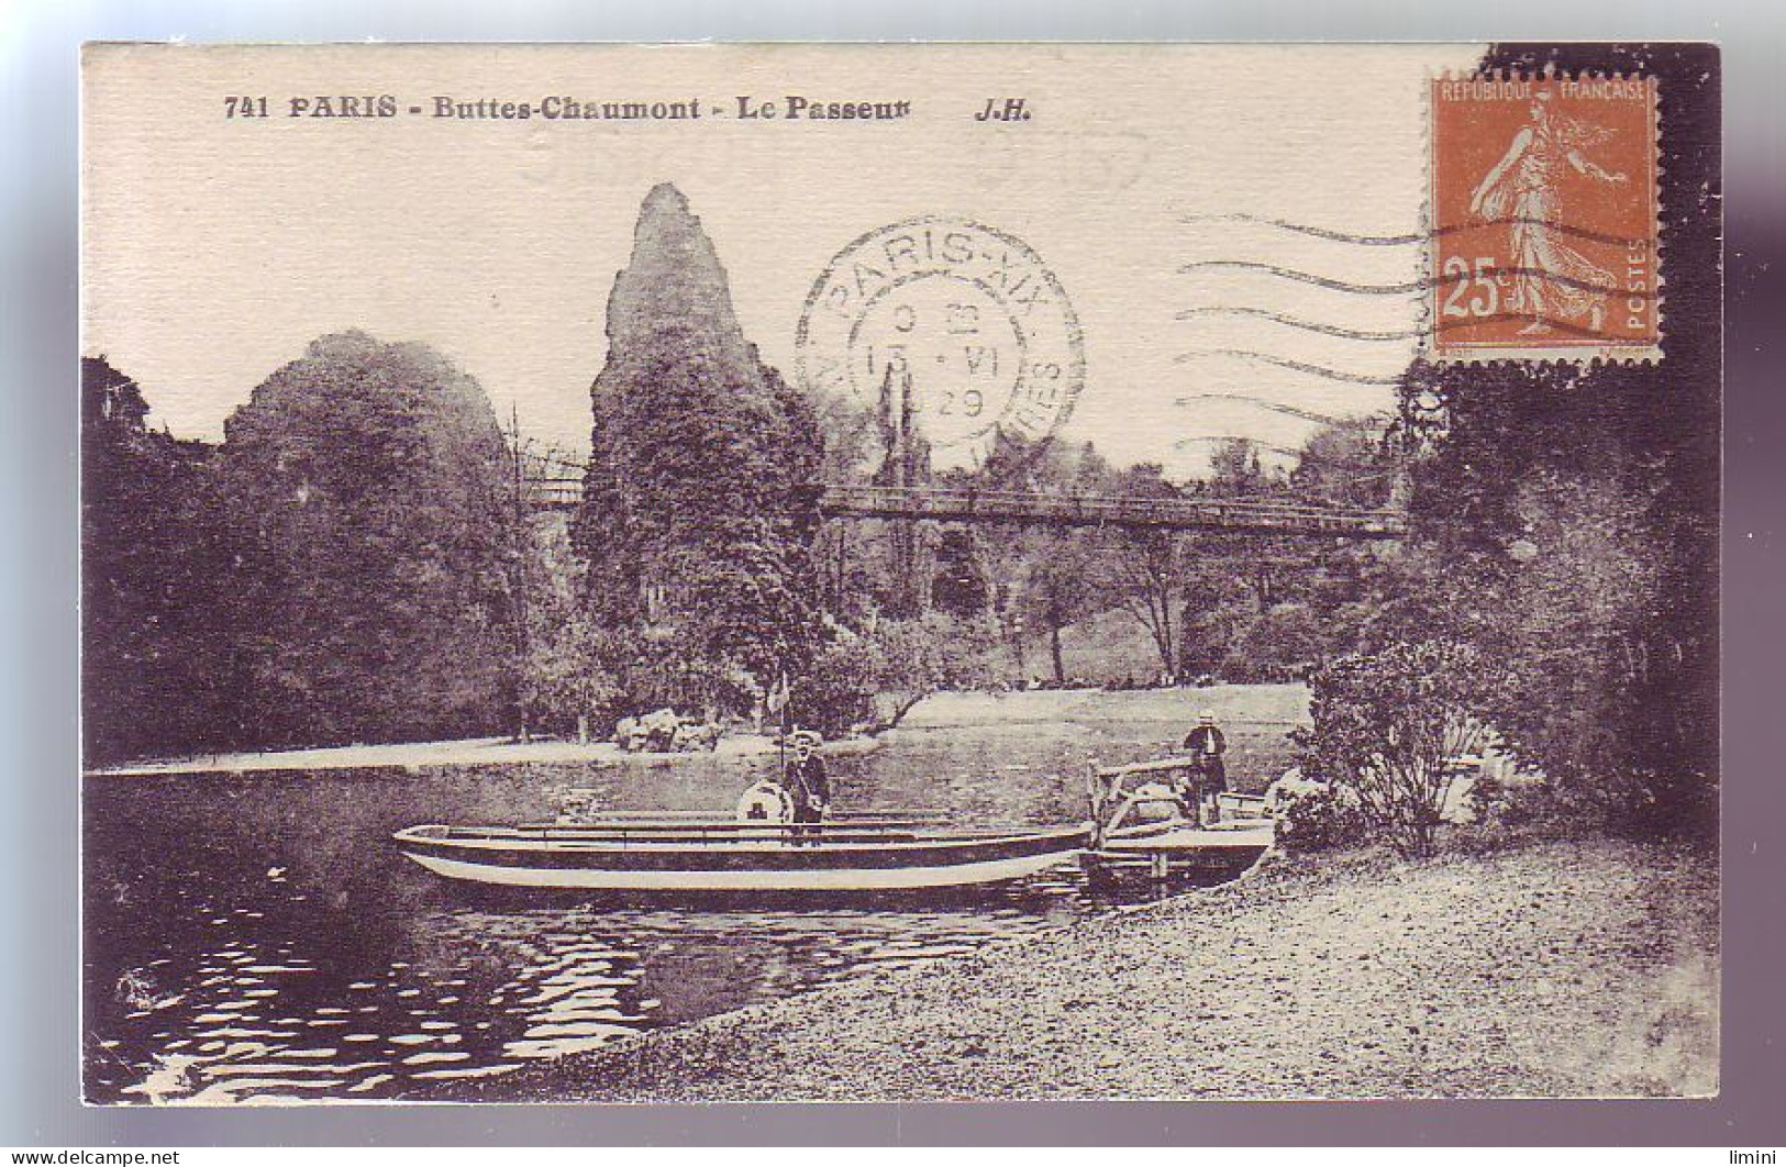
[[398, 832], [405, 857], [448, 880], [607, 892], [875, 892], [1022, 880], [1072, 860], [1084, 830], [986, 839], [830, 842], [580, 842]]

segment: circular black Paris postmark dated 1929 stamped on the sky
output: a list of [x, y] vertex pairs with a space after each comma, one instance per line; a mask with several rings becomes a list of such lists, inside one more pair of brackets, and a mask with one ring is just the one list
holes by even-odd
[[929, 216], [868, 232], [813, 284], [797, 334], [807, 391], [898, 403], [945, 466], [998, 435], [1039, 443], [1084, 387], [1079, 318], [1014, 236]]

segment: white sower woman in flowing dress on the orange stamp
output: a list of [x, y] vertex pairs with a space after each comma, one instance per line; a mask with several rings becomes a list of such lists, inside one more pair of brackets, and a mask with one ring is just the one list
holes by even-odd
[[1522, 334], [1550, 332], [1552, 321], [1586, 321], [1588, 332], [1606, 325], [1606, 296], [1616, 289], [1604, 271], [1559, 236], [1563, 223], [1563, 168], [1597, 182], [1625, 182], [1588, 161], [1581, 146], [1606, 137], [1606, 130], [1582, 125], [1550, 111], [1550, 95], [1532, 100], [1532, 121], [1513, 136], [1507, 152], [1482, 177], [1470, 196], [1470, 212], [1509, 223], [1513, 294], [1507, 307], [1532, 318]]

